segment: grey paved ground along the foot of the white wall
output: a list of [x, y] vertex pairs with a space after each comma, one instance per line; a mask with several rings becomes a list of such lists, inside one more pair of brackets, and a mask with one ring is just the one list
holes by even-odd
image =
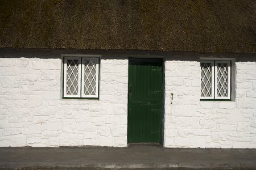
[[[256, 149], [0, 148], [0, 169], [256, 169]], [[55, 167], [55, 168], [53, 168]]]

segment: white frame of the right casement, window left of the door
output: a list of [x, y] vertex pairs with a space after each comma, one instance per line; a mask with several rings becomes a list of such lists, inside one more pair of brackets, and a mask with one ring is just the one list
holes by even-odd
[[[96, 92], [95, 92], [95, 95], [84, 95], [84, 71], [85, 71], [85, 59], [88, 60], [88, 59], [93, 59], [93, 60], [96, 60]], [[81, 97], [88, 97], [88, 98], [98, 98], [98, 81], [99, 81], [99, 66], [98, 66], [98, 63], [99, 63], [99, 58], [97, 57], [82, 57], [82, 82], [81, 82]]]

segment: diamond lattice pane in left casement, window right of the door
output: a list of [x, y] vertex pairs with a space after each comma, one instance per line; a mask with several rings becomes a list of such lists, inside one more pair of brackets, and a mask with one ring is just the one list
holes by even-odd
[[201, 96], [212, 96], [212, 63], [201, 63]]

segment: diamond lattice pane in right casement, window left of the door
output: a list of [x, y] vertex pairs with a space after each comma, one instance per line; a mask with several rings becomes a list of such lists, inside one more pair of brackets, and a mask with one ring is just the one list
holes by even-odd
[[97, 59], [84, 59], [84, 95], [96, 95]]

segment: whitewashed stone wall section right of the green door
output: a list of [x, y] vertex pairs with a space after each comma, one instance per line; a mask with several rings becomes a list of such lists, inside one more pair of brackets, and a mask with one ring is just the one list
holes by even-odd
[[256, 62], [233, 67], [236, 98], [200, 101], [200, 62], [165, 61], [164, 146], [256, 148]]

